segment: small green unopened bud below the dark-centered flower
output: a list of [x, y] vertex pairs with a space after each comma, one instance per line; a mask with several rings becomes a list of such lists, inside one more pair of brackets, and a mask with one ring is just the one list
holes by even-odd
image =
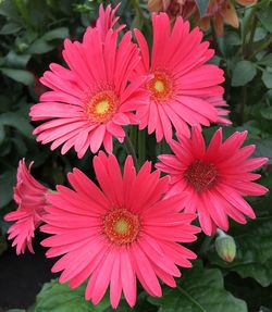
[[221, 259], [232, 262], [236, 255], [236, 244], [232, 236], [223, 230], [218, 230], [219, 236], [215, 239], [215, 250]]

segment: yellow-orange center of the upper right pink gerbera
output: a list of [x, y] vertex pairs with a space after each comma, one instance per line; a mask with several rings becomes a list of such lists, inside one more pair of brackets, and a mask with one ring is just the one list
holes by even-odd
[[153, 78], [147, 83], [147, 89], [151, 91], [151, 99], [158, 103], [168, 100], [173, 92], [173, 84], [169, 75], [160, 70], [154, 71]]

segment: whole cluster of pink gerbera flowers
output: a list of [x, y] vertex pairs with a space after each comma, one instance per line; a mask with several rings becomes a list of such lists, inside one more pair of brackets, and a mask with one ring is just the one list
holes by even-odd
[[[50, 88], [30, 110], [33, 121], [45, 121], [34, 132], [51, 149], [72, 147], [78, 158], [88, 149], [94, 158], [97, 186], [74, 169], [72, 188], [58, 185], [50, 191], [21, 161], [14, 199], [16, 221], [9, 229], [17, 253], [30, 251], [35, 229], [50, 234], [41, 245], [47, 257], [62, 255], [53, 272], [60, 283], [75, 288], [87, 282], [85, 298], [97, 304], [110, 288], [116, 308], [123, 292], [136, 302], [136, 279], [151, 296], [161, 296], [159, 279], [175, 287], [178, 266], [190, 267], [196, 254], [182, 244], [193, 242], [200, 228], [212, 235], [228, 229], [228, 217], [246, 223], [255, 213], [245, 196], [267, 189], [250, 173], [267, 162], [249, 159], [255, 147], [242, 147], [247, 134], [235, 133], [222, 141], [219, 129], [206, 147], [201, 127], [230, 124], [223, 100], [223, 71], [207, 64], [213, 50], [202, 33], [189, 30], [178, 17], [171, 28], [165, 13], [152, 15], [153, 42], [140, 30], [116, 25], [116, 9], [100, 7], [96, 27], [83, 42], [64, 42], [69, 68], [51, 64], [41, 83]], [[122, 35], [121, 40], [119, 37]], [[124, 141], [124, 126], [135, 125], [165, 138], [173, 154], [159, 155], [157, 170], [145, 162], [138, 172], [128, 155], [123, 173], [112, 154], [113, 138]], [[176, 137], [177, 140], [173, 139]], [[160, 171], [168, 175], [160, 177]]]

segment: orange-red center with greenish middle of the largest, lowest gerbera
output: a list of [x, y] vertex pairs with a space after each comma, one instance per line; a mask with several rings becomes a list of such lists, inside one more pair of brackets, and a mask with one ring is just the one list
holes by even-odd
[[138, 215], [123, 208], [109, 211], [102, 223], [104, 234], [116, 245], [132, 244], [140, 229]]

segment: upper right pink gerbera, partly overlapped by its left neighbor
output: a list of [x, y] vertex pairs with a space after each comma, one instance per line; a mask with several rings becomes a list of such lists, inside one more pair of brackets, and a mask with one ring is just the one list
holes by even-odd
[[208, 49], [209, 42], [201, 43], [199, 28], [189, 33], [189, 23], [178, 17], [171, 30], [165, 13], [153, 14], [152, 24], [151, 61], [146, 39], [135, 30], [143, 55], [137, 73], [153, 75], [146, 84], [150, 100], [136, 109], [139, 128], [148, 127], [149, 134], [156, 132], [157, 141], [163, 136], [168, 141], [172, 138], [172, 125], [189, 137], [188, 125], [209, 126], [218, 122], [219, 109], [209, 98], [222, 96], [219, 84], [224, 82], [223, 71], [205, 64], [214, 51]]

